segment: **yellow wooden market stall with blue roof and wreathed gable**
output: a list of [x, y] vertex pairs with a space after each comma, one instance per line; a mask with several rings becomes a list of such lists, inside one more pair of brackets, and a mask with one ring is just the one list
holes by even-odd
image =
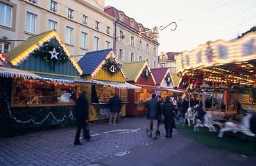
[[89, 94], [89, 120], [106, 119], [110, 115], [108, 100], [117, 93], [123, 101], [121, 116], [126, 116], [128, 90], [141, 89], [126, 82], [126, 74], [112, 49], [86, 53], [78, 64], [82, 68], [80, 82], [85, 82], [83, 90]]

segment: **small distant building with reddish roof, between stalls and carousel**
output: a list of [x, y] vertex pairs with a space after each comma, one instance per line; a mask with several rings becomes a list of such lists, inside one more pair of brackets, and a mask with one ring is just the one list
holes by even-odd
[[161, 52], [159, 56], [158, 65], [160, 68], [168, 67], [170, 68], [171, 73], [176, 73], [176, 59], [180, 53], [178, 52]]

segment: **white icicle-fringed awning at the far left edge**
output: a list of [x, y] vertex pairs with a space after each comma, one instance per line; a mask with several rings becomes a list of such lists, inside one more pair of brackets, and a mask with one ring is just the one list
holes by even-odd
[[26, 77], [28, 79], [42, 79], [39, 75], [36, 75], [35, 73], [31, 73], [29, 71], [23, 71], [15, 68], [6, 68], [6, 67], [0, 67], [0, 76], [1, 77]]

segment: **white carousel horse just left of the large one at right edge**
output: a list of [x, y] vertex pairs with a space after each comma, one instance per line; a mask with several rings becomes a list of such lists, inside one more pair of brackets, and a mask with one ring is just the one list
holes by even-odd
[[203, 123], [201, 120], [196, 119], [194, 131], [199, 131], [199, 127], [207, 127], [210, 132], [216, 132], [215, 127], [212, 125], [212, 116], [210, 113], [206, 113], [205, 116], [203, 116]]

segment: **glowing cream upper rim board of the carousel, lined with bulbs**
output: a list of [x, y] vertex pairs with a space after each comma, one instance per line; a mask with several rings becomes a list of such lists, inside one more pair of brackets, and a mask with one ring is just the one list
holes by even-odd
[[256, 58], [256, 33], [249, 33], [240, 39], [225, 42], [217, 40], [201, 44], [195, 50], [185, 50], [178, 55], [177, 73], [191, 68], [248, 62]]

